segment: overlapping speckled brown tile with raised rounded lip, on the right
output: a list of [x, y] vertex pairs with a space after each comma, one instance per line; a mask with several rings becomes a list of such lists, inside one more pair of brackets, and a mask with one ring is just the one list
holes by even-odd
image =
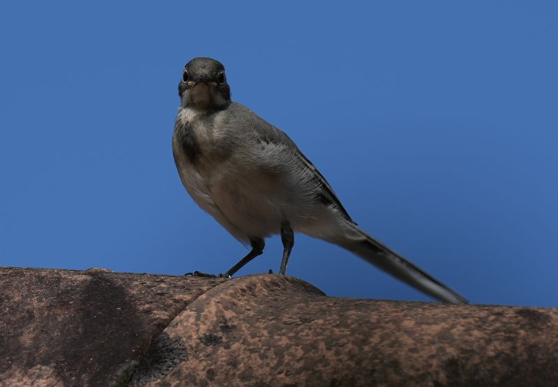
[[133, 385], [558, 386], [558, 310], [331, 298], [279, 275], [214, 287], [159, 340]]

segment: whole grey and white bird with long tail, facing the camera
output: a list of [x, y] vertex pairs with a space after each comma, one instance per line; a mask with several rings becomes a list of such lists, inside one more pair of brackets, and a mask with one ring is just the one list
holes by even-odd
[[277, 234], [285, 275], [294, 234], [302, 233], [345, 248], [439, 301], [467, 303], [356, 225], [292, 139], [231, 99], [222, 63], [188, 61], [178, 89], [172, 153], [180, 179], [199, 207], [250, 248], [225, 277], [262, 255], [265, 239]]

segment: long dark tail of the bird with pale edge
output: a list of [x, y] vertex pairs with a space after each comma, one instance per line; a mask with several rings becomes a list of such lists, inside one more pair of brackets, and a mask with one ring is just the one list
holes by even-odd
[[349, 228], [349, 232], [345, 234], [346, 237], [341, 241], [335, 241], [335, 244], [440, 301], [456, 304], [469, 303], [463, 296], [442, 284], [412, 262], [407, 261], [386, 245], [376, 241], [354, 223], [351, 222]]

